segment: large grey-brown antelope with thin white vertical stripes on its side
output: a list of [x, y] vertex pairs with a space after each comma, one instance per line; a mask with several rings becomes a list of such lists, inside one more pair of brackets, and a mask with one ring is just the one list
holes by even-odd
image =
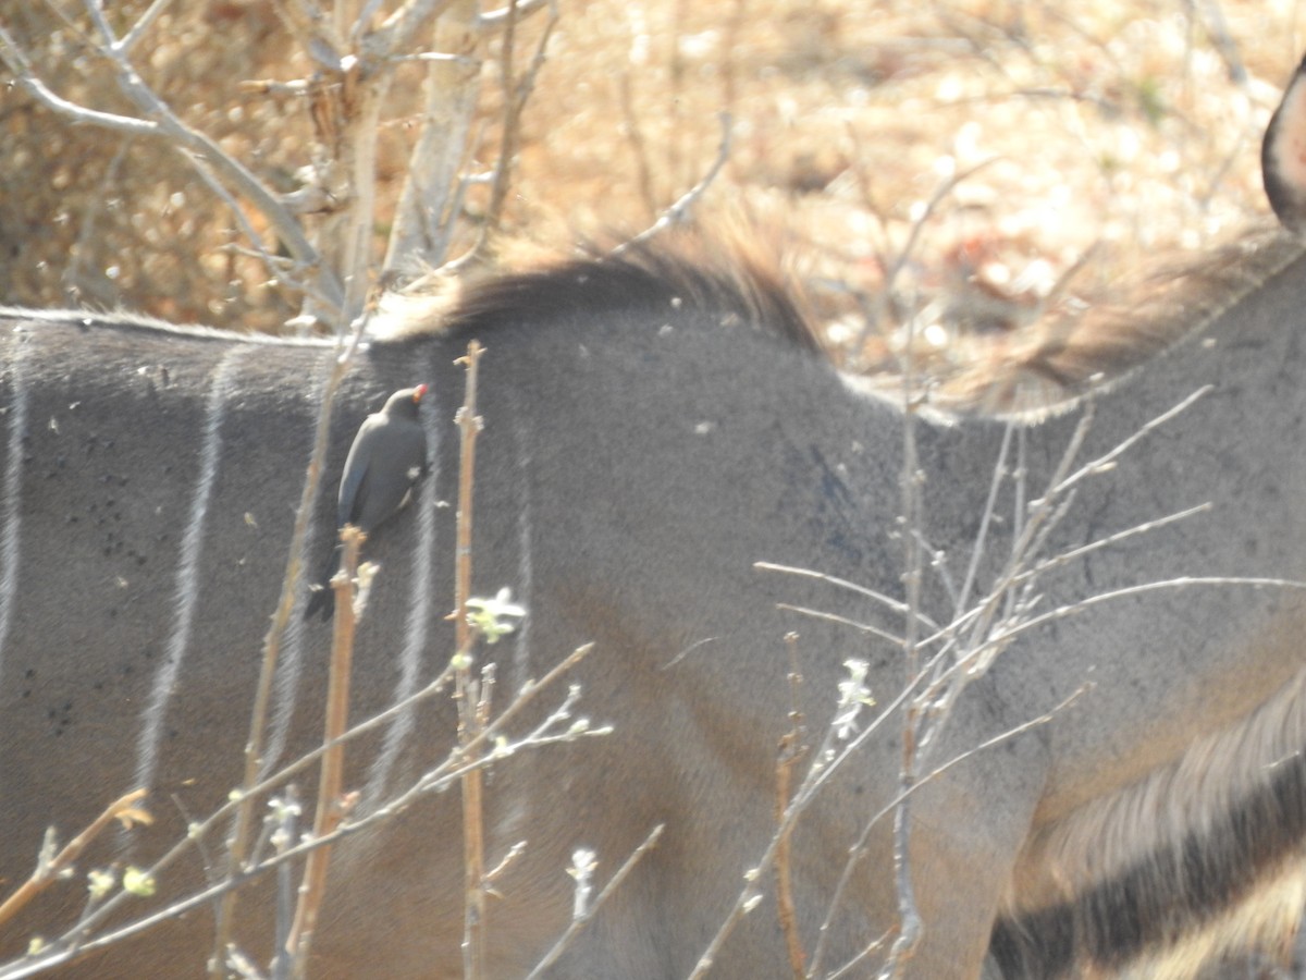
[[[1306, 580], [1303, 291], [1294, 240], [1249, 239], [1111, 344], [1072, 335], [1027, 358], [1027, 372], [1058, 385], [1094, 367], [1121, 375], [1094, 399], [1080, 460], [1209, 387], [1113, 470], [1080, 482], [1045, 553], [1211, 510], [1050, 570], [1041, 609], [1175, 576]], [[50, 819], [67, 832], [148, 784], [162, 826], [135, 835], [142, 860], [238, 779], [312, 433], [312, 379], [330, 351], [72, 314], [7, 311], [3, 327], [0, 869], [13, 881]], [[902, 631], [900, 613], [754, 567], [811, 567], [902, 595], [902, 416], [853, 391], [801, 342], [803, 325], [777, 286], [729, 257], [652, 251], [508, 277], [474, 291], [444, 327], [375, 345], [337, 405], [326, 486], [357, 419], [397, 388], [430, 385], [435, 449], [411, 516], [370, 545], [385, 571], [358, 638], [354, 716], [431, 676], [451, 649], [453, 519], [436, 502], [453, 498], [456, 448], [441, 423], [461, 396], [451, 362], [475, 336], [490, 350], [475, 587], [512, 585], [530, 610], [526, 629], [491, 651], [499, 696], [594, 642], [576, 679], [586, 713], [616, 725], [607, 738], [495, 767], [490, 860], [517, 840], [528, 848], [496, 882], [491, 975], [522, 973], [564, 928], [576, 848], [611, 870], [656, 823], [666, 825], [661, 841], [556, 975], [684, 975], [772, 835], [776, 746], [793, 699], [820, 732], [845, 660], [868, 661], [880, 704], [908, 679], [893, 644], [776, 604], [891, 632]], [[1155, 348], [1165, 350], [1124, 371]], [[1067, 412], [1025, 430], [1030, 495], [1076, 425]], [[1006, 430], [993, 417], [916, 423], [921, 532], [953, 585]], [[319, 545], [333, 525], [329, 497]], [[998, 512], [1017, 507], [1008, 482]], [[1010, 520], [987, 529], [976, 595], [1000, 574], [1011, 541]], [[935, 571], [921, 610], [938, 623], [959, 612]], [[291, 629], [283, 703], [296, 696], [278, 715], [283, 753], [312, 745], [324, 683], [324, 627], [296, 617]], [[784, 640], [795, 629], [797, 695]], [[1279, 949], [1302, 906], [1302, 592], [1203, 584], [1123, 597], [1012, 639], [953, 706], [930, 746], [934, 763], [1093, 687], [913, 797], [925, 930], [908, 973], [976, 976], [991, 936], [1011, 976], [1178, 977], [1243, 946]], [[443, 755], [451, 732], [447, 706], [423, 710], [397, 754], [379, 738], [350, 750], [351, 784], [404, 784]], [[900, 758], [889, 725], [799, 823], [791, 866], [806, 942], [849, 841], [893, 798]], [[317, 976], [457, 975], [457, 801], [444, 794], [340, 848]], [[104, 847], [101, 860], [112, 856], [112, 841]], [[835, 919], [831, 967], [896, 921], [888, 821], [868, 848]], [[201, 877], [199, 858], [188, 874], [192, 885]], [[764, 892], [716, 975], [784, 973]], [[63, 902], [76, 908], [80, 898]], [[266, 891], [243, 900], [240, 936], [260, 955], [268, 902]], [[44, 929], [68, 912], [59, 904], [38, 909]], [[7, 932], [13, 953], [25, 934]], [[209, 916], [193, 912], [101, 955], [86, 975], [193, 975], [208, 942]]]

